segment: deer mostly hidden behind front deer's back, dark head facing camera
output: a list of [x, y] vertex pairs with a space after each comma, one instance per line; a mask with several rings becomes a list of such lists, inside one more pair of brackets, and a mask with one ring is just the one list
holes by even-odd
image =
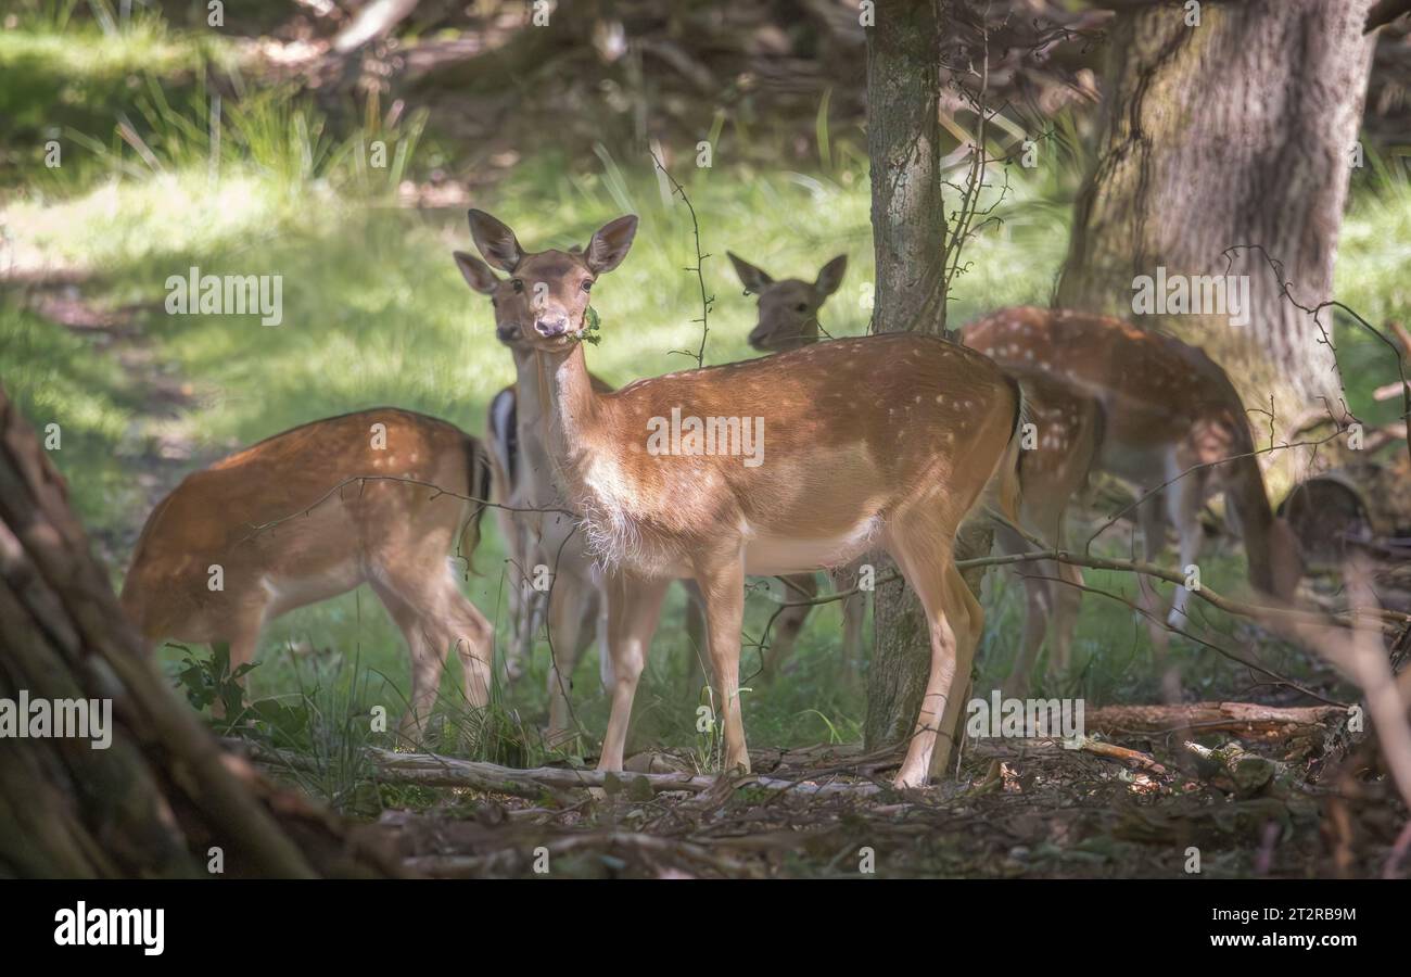
[[[775, 281], [769, 272], [749, 261], [745, 261], [734, 251], [725, 251], [729, 263], [735, 265], [735, 274], [745, 287], [745, 294], [759, 298], [759, 318], [755, 328], [749, 330], [751, 347], [761, 353], [780, 353], [783, 350], [799, 349], [818, 342], [818, 309], [824, 301], [842, 284], [842, 275], [848, 270], [848, 256], [840, 254], [828, 261], [818, 271], [818, 277], [811, 281], [801, 278], [785, 278]], [[837, 590], [855, 590], [858, 582], [858, 563], [830, 573]], [[818, 593], [818, 586], [811, 573], [804, 576], [790, 576], [785, 579], [787, 590], [792, 592], [787, 600], [809, 600]], [[849, 594], [842, 600], [842, 659], [845, 664], [862, 659], [862, 623], [866, 616], [866, 597], [861, 593]], [[794, 637], [803, 630], [809, 617], [809, 607], [790, 607], [779, 616], [779, 640], [770, 648], [770, 658], [766, 659], [766, 672], [776, 672], [777, 662], [787, 661], [793, 649]]]

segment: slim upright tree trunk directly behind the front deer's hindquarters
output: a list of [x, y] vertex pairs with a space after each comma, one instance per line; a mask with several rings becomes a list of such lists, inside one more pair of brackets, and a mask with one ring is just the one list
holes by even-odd
[[[868, 155], [872, 161], [872, 332], [935, 332], [944, 308], [940, 20], [930, 3], [882, 0], [868, 28]], [[878, 563], [888, 575], [890, 559]], [[912, 587], [879, 586], [868, 672], [868, 750], [912, 734], [930, 668], [926, 614]]]

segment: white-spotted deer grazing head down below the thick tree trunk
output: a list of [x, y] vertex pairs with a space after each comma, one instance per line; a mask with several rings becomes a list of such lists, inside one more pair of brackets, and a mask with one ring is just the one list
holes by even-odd
[[[1158, 490], [1139, 507], [1144, 556], [1151, 562], [1160, 558], [1170, 521], [1175, 525], [1180, 561], [1185, 568], [1199, 555], [1201, 507], [1211, 494], [1223, 491], [1228, 521], [1245, 539], [1250, 583], [1276, 599], [1292, 597], [1302, 576], [1297, 538], [1268, 505], [1239, 394], [1202, 350], [1171, 336], [1143, 332], [1120, 319], [1031, 306], [986, 315], [967, 325], [962, 335], [967, 346], [986, 353], [1016, 376], [1047, 380], [1047, 388], [1034, 395], [1037, 404], [1067, 391], [1068, 407], [1055, 405], [1051, 412], [1040, 409], [1036, 416], [1040, 450], [1037, 455], [1024, 452], [1020, 459], [1026, 503], [1036, 500], [1044, 505], [1046, 496], [1054, 501], [1071, 496], [1081, 484], [1077, 469], [1092, 455], [1094, 469], [1141, 493]], [[1091, 398], [1096, 409], [1081, 409], [1082, 397]], [[1065, 445], [1075, 446], [1074, 467], [1050, 472], [1053, 453]], [[1044, 466], [1034, 473], [1036, 488], [1030, 481], [1033, 462]], [[1188, 469], [1194, 470], [1182, 476]], [[1055, 507], [1034, 525], [1043, 532], [1058, 534], [1060, 518], [1061, 507]], [[1058, 541], [1061, 535], [1047, 538]], [[1147, 607], [1157, 609], [1156, 594], [1144, 577], [1141, 585]], [[1167, 616], [1173, 627], [1184, 624], [1188, 601], [1189, 592], [1177, 587]], [[1071, 630], [1072, 614], [1068, 613], [1057, 627], [1062, 648], [1067, 648]], [[1154, 630], [1153, 635], [1160, 652], [1165, 633]], [[1037, 648], [1026, 644], [1020, 671], [1026, 665], [1023, 655], [1031, 652]], [[1027, 665], [1033, 665], [1031, 657]], [[1026, 671], [1024, 675], [1027, 678]], [[1168, 681], [1167, 692], [1173, 690]]]

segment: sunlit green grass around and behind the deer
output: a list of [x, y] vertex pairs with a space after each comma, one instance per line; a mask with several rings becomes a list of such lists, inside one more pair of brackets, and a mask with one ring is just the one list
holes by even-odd
[[[514, 378], [507, 352], [492, 335], [488, 302], [470, 292], [450, 251], [468, 248], [463, 210], [413, 212], [389, 206], [391, 192], [420, 138], [420, 120], [398, 128], [332, 134], [322, 117], [284, 93], [253, 93], [223, 113], [219, 152], [209, 136], [209, 99], [199, 85], [168, 92], [150, 76], [182, 75], [206, 55], [188, 40], [162, 31], [134, 34], [104, 54], [85, 54], [65, 32], [65, 54], [48, 47], [52, 27], [0, 34], [0, 68], [7, 83], [0, 99], [38, 97], [40, 104], [72, 99], [79, 116], [110, 119], [116, 109], [133, 121], [147, 152], [107, 137], [78, 140], [87, 162], [52, 178], [27, 169], [25, 189], [13, 195], [0, 222], [16, 253], [37, 264], [90, 275], [85, 295], [100, 305], [140, 304], [140, 325], [155, 360], [195, 388], [182, 431], [192, 466], [293, 425], [395, 404], [443, 416], [467, 431], [484, 429], [490, 398]], [[21, 37], [21, 34], [24, 37]], [[175, 54], [162, 45], [174, 44]], [[65, 61], [75, 58], [73, 64]], [[164, 61], [168, 59], [168, 61]], [[24, 85], [8, 78], [27, 65], [40, 76]], [[79, 71], [82, 69], [82, 71]], [[66, 78], [61, 78], [68, 75]], [[114, 79], [121, 85], [113, 88]], [[127, 79], [134, 79], [128, 83]], [[78, 88], [69, 89], [76, 85]], [[104, 88], [107, 86], [107, 88]], [[86, 113], [86, 114], [85, 114]], [[0, 104], [0, 116], [3, 116]], [[21, 126], [37, 126], [24, 121]], [[96, 131], [96, 130], [95, 130]], [[855, 133], [827, 131], [820, 113], [820, 168], [816, 172], [759, 171], [717, 165], [696, 169], [690, 160], [673, 167], [701, 216], [707, 289], [715, 296], [710, 316], [707, 361], [749, 356], [745, 335], [755, 305], [725, 260], [734, 250], [775, 277], [811, 278], [838, 253], [849, 258], [848, 277], [824, 306], [830, 335], [866, 328], [864, 301], [872, 282], [872, 244], [865, 161]], [[737, 127], [737, 137], [744, 137]], [[389, 141], [389, 171], [367, 167], [373, 138]], [[219, 161], [212, 181], [210, 160]], [[718, 161], [720, 162], [720, 161]], [[576, 164], [576, 165], [574, 165]], [[32, 167], [32, 160], [24, 165]], [[969, 247], [972, 271], [957, 285], [954, 322], [1015, 302], [1046, 302], [1067, 247], [1071, 165], [1033, 175], [1015, 168], [1013, 193], [1000, 227]], [[32, 179], [31, 179], [32, 178]], [[45, 182], [45, 181], [49, 182]], [[588, 353], [594, 371], [615, 384], [691, 364], [673, 350], [698, 344], [697, 282], [684, 271], [696, 261], [686, 208], [653, 175], [649, 160], [600, 147], [594, 165], [545, 151], [523, 160], [511, 176], [474, 199], [494, 212], [532, 248], [583, 244], [595, 227], [624, 212], [642, 217], [626, 263], [594, 291], [602, 342]], [[1359, 191], [1345, 223], [1338, 267], [1339, 296], [1376, 323], [1408, 315], [1404, 268], [1411, 241], [1411, 200], [1404, 178], [1384, 174]], [[284, 277], [284, 323], [261, 326], [254, 316], [181, 316], [162, 311], [168, 275], [198, 265], [207, 274], [279, 274]], [[1394, 378], [1384, 353], [1366, 337], [1339, 335], [1343, 366], [1353, 387], [1353, 408], [1373, 408], [1367, 391]], [[1381, 357], [1381, 359], [1379, 359]], [[63, 449], [54, 456], [68, 476], [75, 505], [86, 524], [135, 529], [145, 518], [145, 498], [133, 488], [145, 464], [141, 448], [151, 435], [143, 415], [143, 384], [90, 340], [21, 309], [0, 304], [0, 373], [6, 388], [37, 425], [58, 422]], [[1381, 416], [1381, 415], [1379, 415]], [[488, 521], [487, 521], [488, 522]], [[1113, 539], [1112, 545], [1118, 545]], [[126, 558], [126, 553], [119, 553]], [[495, 620], [499, 640], [505, 620], [504, 555], [491, 529], [466, 592]], [[1223, 552], [1202, 559], [1206, 580], [1237, 592], [1243, 556]], [[1130, 592], [1118, 575], [1095, 573], [1091, 586]], [[1007, 673], [1020, 630], [1020, 601], [1009, 577], [996, 577], [989, 604], [991, 627], [981, 652], [981, 688]], [[696, 731], [700, 703], [691, 649], [682, 621], [683, 597], [674, 590], [638, 695], [631, 747], [672, 744], [704, 757], [710, 743]], [[746, 637], [758, 635], [769, 614], [766, 599], [751, 600]], [[1212, 616], [1219, 640], [1249, 651], [1250, 635], [1223, 616]], [[838, 664], [840, 613], [814, 613], [800, 637], [794, 669], [772, 685], [752, 682], [745, 692], [746, 726], [755, 745], [800, 745], [858, 737], [864, 716], [862, 683], [848, 681]], [[1298, 671], [1302, 664], [1276, 645], [1261, 649], [1270, 662]], [[1242, 688], [1240, 669], [1215, 652], [1177, 642], [1187, 673], [1202, 689]], [[1078, 630], [1075, 669], [1047, 688], [1081, 693], [1094, 702], [1154, 695], [1144, 627], [1123, 606], [1088, 597]], [[168, 662], [181, 658], [166, 652]], [[501, 689], [497, 730], [487, 755], [533, 761], [540, 748], [526, 730], [546, 709], [547, 649], [540, 644], [529, 675]], [[309, 737], [343, 729], [349, 716], [384, 706], [395, 717], [404, 703], [408, 668], [396, 630], [370, 592], [361, 590], [275, 621], [253, 672], [253, 692], [313, 702]], [[452, 657], [447, 693], [459, 685]], [[746, 647], [744, 673], [758, 662]], [[357, 668], [354, 668], [357, 665]], [[354, 675], [356, 673], [356, 675]], [[607, 700], [590, 654], [576, 679], [574, 710], [590, 736], [605, 727]], [[450, 705], [453, 730], [466, 717]], [[502, 736], [501, 736], [502, 733]], [[505, 744], [521, 741], [518, 747]], [[334, 737], [336, 738], [336, 737]], [[315, 740], [305, 748], [316, 750]], [[344, 798], [356, 779], [327, 753], [334, 771], [320, 791]], [[344, 769], [343, 774], [337, 774]], [[346, 798], [344, 798], [346, 799]]]

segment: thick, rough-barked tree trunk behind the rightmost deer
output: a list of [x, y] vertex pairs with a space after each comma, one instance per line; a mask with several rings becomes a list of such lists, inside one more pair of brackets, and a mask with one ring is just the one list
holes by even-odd
[[[1328, 402], [1332, 352], [1304, 306], [1332, 270], [1367, 88], [1370, 0], [1246, 0], [1122, 13], [1106, 121], [1074, 217], [1055, 302], [1133, 318], [1204, 346], [1249, 408], [1280, 424]], [[1249, 275], [1247, 323], [1226, 315], [1133, 315], [1133, 278]], [[1322, 322], [1331, 332], [1331, 313]], [[1264, 426], [1263, 424], [1260, 426]]]

